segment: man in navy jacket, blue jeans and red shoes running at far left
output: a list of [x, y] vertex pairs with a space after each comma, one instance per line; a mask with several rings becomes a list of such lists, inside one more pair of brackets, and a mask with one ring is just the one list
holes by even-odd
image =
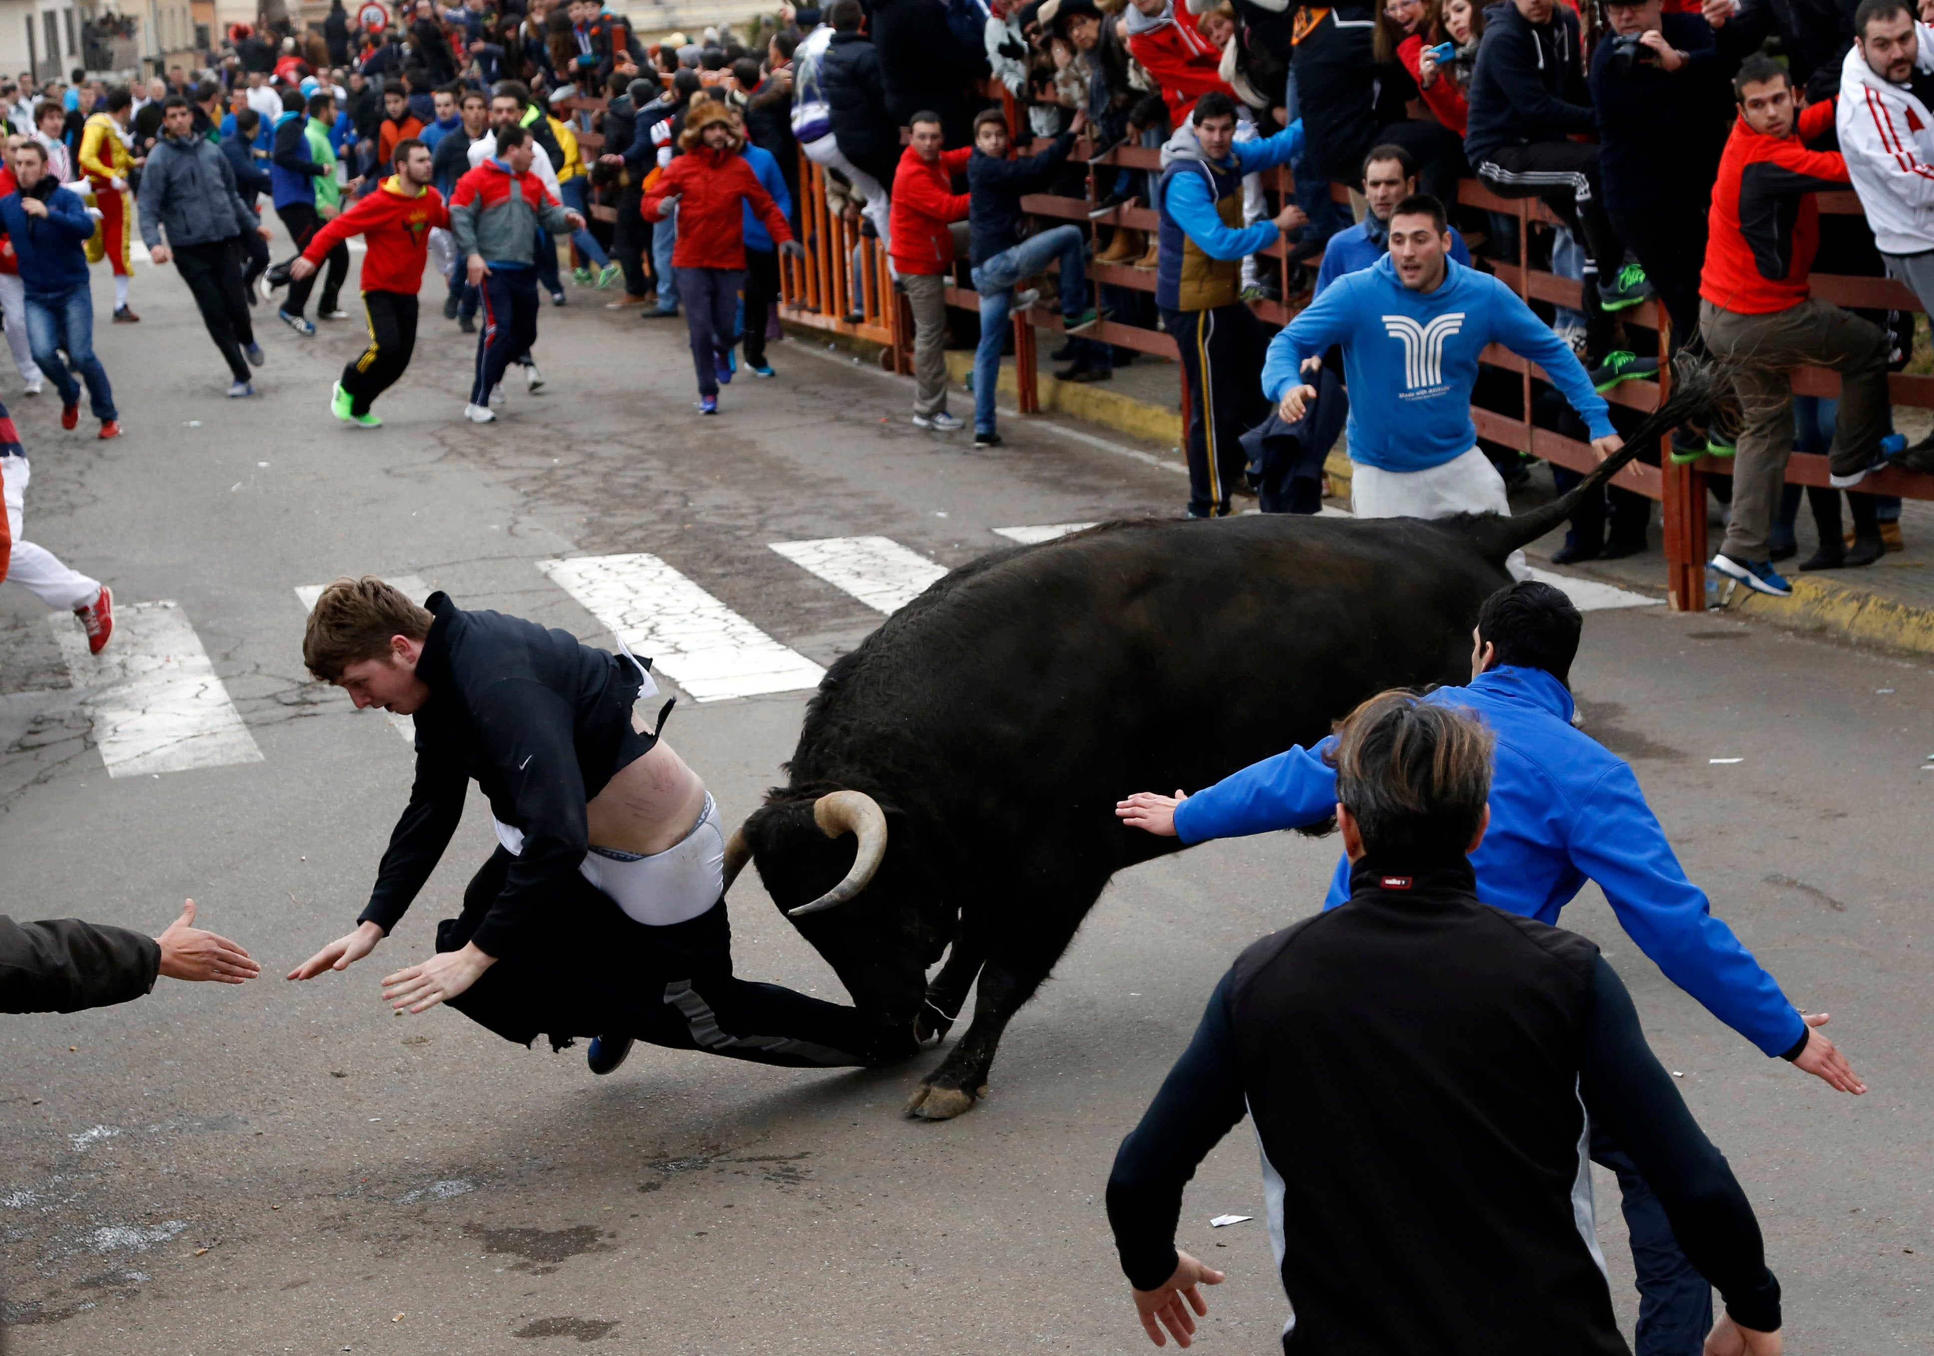
[[[19, 188], [0, 197], [0, 230], [14, 242], [21, 290], [27, 294], [27, 342], [33, 362], [60, 391], [60, 427], [81, 418], [81, 387], [101, 420], [101, 437], [120, 437], [114, 387], [95, 358], [95, 296], [87, 275], [87, 240], [95, 219], [81, 199], [46, 172], [46, 147], [27, 141], [14, 157]], [[60, 360], [68, 356], [68, 362]], [[73, 371], [68, 371], [68, 368]]]

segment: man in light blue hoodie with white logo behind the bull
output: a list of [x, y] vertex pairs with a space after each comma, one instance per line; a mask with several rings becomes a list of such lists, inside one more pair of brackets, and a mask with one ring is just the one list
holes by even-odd
[[[1304, 383], [1331, 344], [1350, 389], [1352, 507], [1360, 518], [1510, 513], [1505, 480], [1478, 451], [1470, 393], [1478, 356], [1503, 344], [1545, 369], [1592, 429], [1601, 458], [1625, 441], [1570, 348], [1516, 292], [1449, 257], [1443, 203], [1412, 193], [1391, 213], [1391, 251], [1323, 290], [1269, 344], [1263, 393], [1294, 424], [1315, 400]], [[1524, 551], [1507, 563], [1530, 578]]]

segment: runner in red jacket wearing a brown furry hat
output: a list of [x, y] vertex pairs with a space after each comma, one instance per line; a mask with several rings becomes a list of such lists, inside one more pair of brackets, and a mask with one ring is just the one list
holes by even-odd
[[646, 221], [661, 221], [667, 203], [679, 205], [679, 244], [671, 250], [671, 269], [685, 302], [685, 325], [692, 335], [692, 368], [698, 371], [698, 412], [719, 412], [719, 385], [731, 381], [733, 325], [739, 288], [745, 286], [743, 203], [750, 203], [766, 222], [781, 253], [805, 253], [793, 232], [758, 184], [758, 174], [739, 151], [745, 130], [737, 114], [710, 97], [692, 95], [679, 149], [644, 195], [638, 211]]

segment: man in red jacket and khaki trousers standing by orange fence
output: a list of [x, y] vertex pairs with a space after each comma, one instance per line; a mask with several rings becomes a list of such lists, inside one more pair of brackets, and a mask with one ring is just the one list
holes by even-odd
[[913, 304], [913, 422], [952, 433], [965, 427], [948, 414], [948, 269], [953, 267], [953, 230], [967, 230], [967, 193], [953, 192], [953, 176], [967, 168], [973, 147], [942, 151], [938, 112], [917, 112], [913, 145], [894, 170], [894, 273]]

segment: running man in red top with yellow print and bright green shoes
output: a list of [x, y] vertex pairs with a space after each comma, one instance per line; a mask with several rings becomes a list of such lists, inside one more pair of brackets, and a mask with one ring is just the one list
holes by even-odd
[[362, 277], [369, 348], [342, 369], [329, 398], [329, 412], [356, 427], [383, 427], [369, 404], [396, 385], [410, 366], [410, 352], [416, 348], [416, 292], [424, 286], [429, 232], [451, 224], [451, 209], [429, 186], [435, 176], [429, 147], [404, 137], [396, 143], [393, 164], [396, 174], [325, 222], [288, 269], [290, 279], [306, 279], [350, 236], [362, 236], [369, 246]]

